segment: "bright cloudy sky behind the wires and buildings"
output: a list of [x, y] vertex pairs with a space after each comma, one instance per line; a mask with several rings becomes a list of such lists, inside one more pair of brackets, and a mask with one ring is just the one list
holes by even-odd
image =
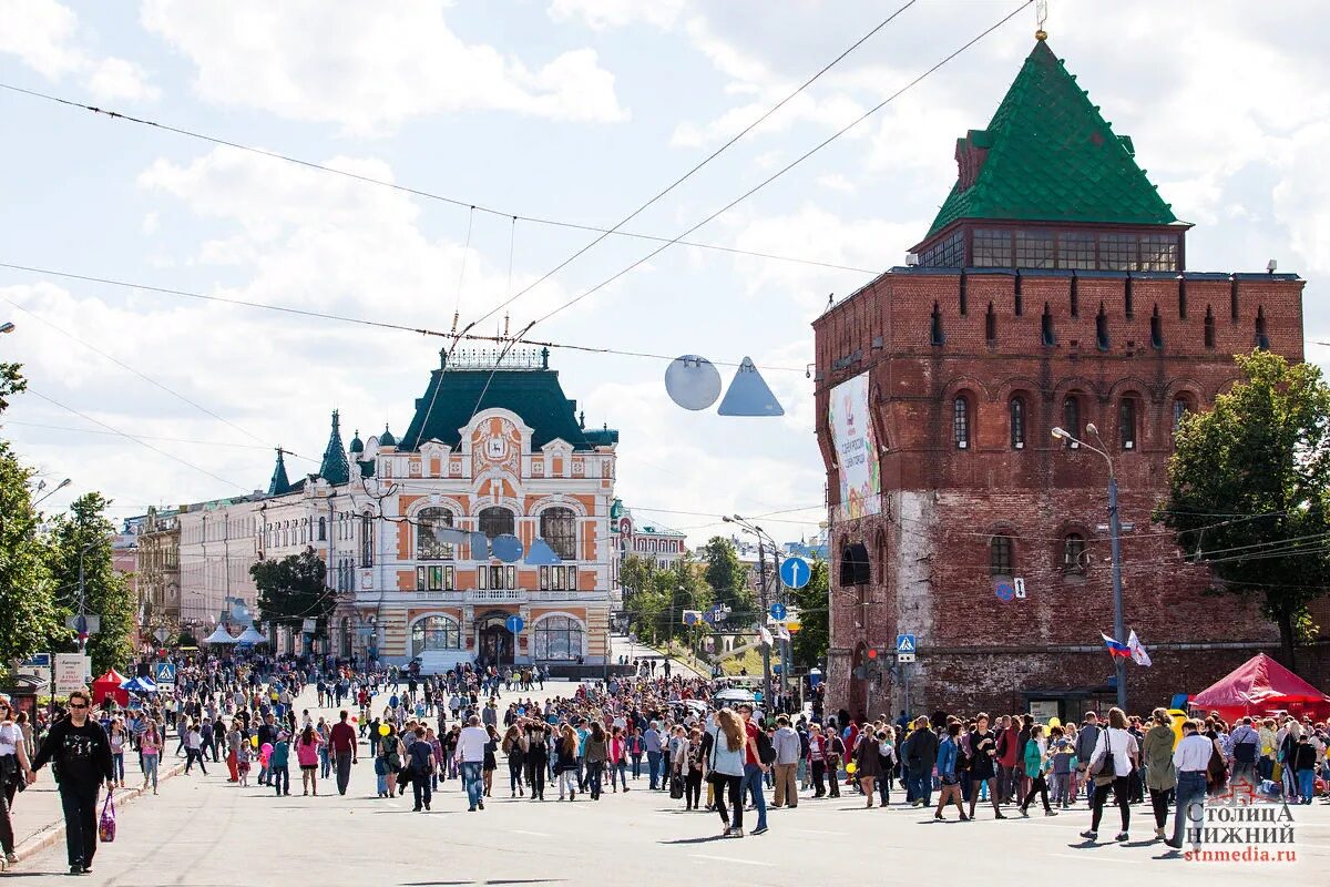
[[[596, 237], [504, 214], [612, 226], [900, 3], [0, 0], [0, 82], [463, 203], [0, 90], [0, 262], [448, 330], [455, 311], [463, 324], [489, 313]], [[1019, 5], [919, 0], [626, 230], [678, 235]], [[1196, 223], [1189, 267], [1275, 258], [1311, 281], [1309, 340], [1330, 338], [1330, 8], [1053, 0], [1047, 27]], [[673, 246], [532, 330], [751, 355], [785, 404], [783, 419], [690, 414], [666, 398], [661, 360], [556, 351], [588, 424], [621, 430], [618, 492], [640, 520], [702, 541], [716, 515], [783, 512], [763, 519], [778, 537], [815, 532], [809, 323], [829, 294], [902, 263], [955, 178], [955, 138], [987, 124], [1033, 31], [1031, 4], [689, 238], [843, 267]], [[477, 331], [504, 313], [521, 328], [656, 246], [609, 238]], [[48, 483], [113, 497], [117, 517], [265, 487], [273, 447], [318, 457], [334, 407], [347, 439], [384, 423], [400, 434], [440, 347], [0, 269], [5, 319], [19, 328], [0, 356], [25, 364], [33, 394], [4, 436]], [[293, 475], [317, 468], [302, 457]]]

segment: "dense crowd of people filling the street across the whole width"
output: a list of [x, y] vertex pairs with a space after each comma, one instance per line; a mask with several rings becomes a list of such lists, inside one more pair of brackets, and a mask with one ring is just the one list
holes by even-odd
[[[173, 692], [128, 706], [105, 699], [93, 707], [80, 692], [31, 722], [12, 717], [0, 698], [4, 852], [12, 862], [16, 790], [53, 762], [70, 871], [89, 871], [98, 791], [125, 787], [126, 755], [138, 759], [144, 791], [156, 794], [161, 761], [174, 754], [186, 774], [206, 774], [211, 763], [225, 767], [229, 783], [277, 797], [291, 793], [293, 758], [302, 793], [314, 797], [321, 781], [347, 794], [366, 758], [378, 798], [410, 791], [422, 813], [450, 781], [469, 811], [483, 811], [503, 767], [509, 799], [669, 793], [685, 811], [718, 815], [729, 838], [745, 835], [745, 813], [755, 815], [749, 834], [761, 835], [769, 809], [841, 797], [888, 807], [895, 795], [895, 806], [931, 809], [934, 819], [951, 807], [958, 819], [974, 821], [988, 809], [1005, 819], [1084, 805], [1088, 842], [1097, 840], [1109, 801], [1119, 810], [1117, 840], [1129, 836], [1133, 806], [1148, 802], [1154, 838], [1180, 848], [1188, 814], [1194, 824], [1206, 797], [1232, 786], [1290, 803], [1326, 793], [1326, 726], [1287, 714], [1233, 725], [1217, 714], [1174, 722], [1162, 709], [1142, 718], [1116, 707], [1080, 723], [940, 711], [902, 711], [892, 721], [845, 710], [823, 717], [819, 694], [809, 706], [782, 697], [761, 711], [724, 681], [672, 674], [668, 665], [557, 685], [567, 692], [549, 696], [547, 678], [531, 666], [460, 665], [422, 676], [335, 662], [205, 660], [180, 664]], [[301, 703], [307, 689], [313, 711]]]

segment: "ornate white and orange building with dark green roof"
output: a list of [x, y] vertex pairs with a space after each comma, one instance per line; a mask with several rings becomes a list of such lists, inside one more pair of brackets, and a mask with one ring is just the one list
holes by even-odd
[[[336, 656], [426, 672], [602, 664], [618, 432], [584, 427], [548, 352], [443, 356], [400, 440], [356, 432], [343, 449], [334, 414], [317, 475], [289, 481], [278, 453], [255, 551], [325, 560]], [[516, 560], [501, 551], [513, 540]], [[529, 563], [537, 540], [545, 563]]]

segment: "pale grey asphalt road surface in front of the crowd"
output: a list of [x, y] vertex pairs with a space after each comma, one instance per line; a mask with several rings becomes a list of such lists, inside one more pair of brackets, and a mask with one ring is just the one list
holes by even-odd
[[[548, 685], [559, 693], [563, 685]], [[293, 767], [294, 769], [294, 767]], [[436, 794], [431, 813], [416, 814], [411, 798], [374, 798], [368, 755], [351, 778], [347, 797], [331, 785], [321, 797], [277, 798], [257, 786], [225, 782], [225, 767], [209, 777], [181, 777], [162, 786], [152, 803], [133, 805], [120, 818], [113, 844], [102, 844], [89, 883], [201, 887], [363, 882], [375, 887], [501, 883], [604, 884], [686, 883], [742, 879], [745, 884], [826, 884], [878, 879], [884, 871], [942, 876], [1023, 879], [1109, 875], [1124, 879], [1204, 871], [1208, 887], [1273, 876], [1281, 887], [1323, 887], [1330, 871], [1330, 806], [1293, 809], [1297, 862], [1189, 863], [1168, 858], [1150, 836], [1148, 811], [1133, 809], [1133, 840], [1088, 846], [1084, 806], [1056, 818], [934, 823], [931, 811], [894, 805], [866, 810], [862, 798], [801, 802], [770, 813], [770, 831], [743, 839], [720, 838], [710, 813], [684, 813], [682, 802], [645, 790], [598, 802], [509, 799], [507, 769], [495, 773], [493, 798], [468, 813], [454, 781]], [[257, 770], [254, 774], [257, 775]], [[547, 790], [547, 798], [557, 797]], [[1116, 814], [1107, 811], [1108, 836]], [[746, 821], [753, 827], [754, 814]], [[987, 817], [987, 818], [986, 818]], [[954, 817], [952, 817], [954, 819]], [[63, 846], [25, 862], [8, 876], [27, 884], [66, 878]], [[68, 882], [65, 882], [68, 883]]]

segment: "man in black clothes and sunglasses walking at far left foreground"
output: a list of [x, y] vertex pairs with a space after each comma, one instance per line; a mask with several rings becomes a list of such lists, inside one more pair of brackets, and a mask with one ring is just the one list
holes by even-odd
[[101, 725], [88, 718], [90, 705], [86, 690], [70, 693], [69, 717], [51, 727], [32, 762], [35, 773], [48, 761], [53, 763], [65, 814], [70, 875], [92, 871], [92, 858], [97, 852], [97, 795], [102, 782], [106, 791], [116, 785], [110, 742]]

